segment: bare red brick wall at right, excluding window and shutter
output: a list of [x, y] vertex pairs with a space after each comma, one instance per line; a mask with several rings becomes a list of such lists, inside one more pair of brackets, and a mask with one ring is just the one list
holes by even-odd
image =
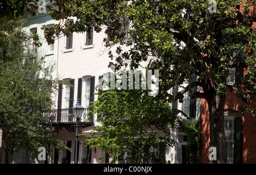
[[[237, 110], [238, 106], [247, 105], [243, 103], [241, 99], [238, 99], [233, 92], [228, 90], [226, 92], [226, 101], [225, 101], [225, 109], [234, 109]], [[256, 103], [250, 104], [253, 108], [256, 108]], [[209, 155], [209, 144], [210, 144], [210, 136], [209, 136], [209, 110], [207, 101], [201, 99], [201, 142], [200, 142], [200, 163], [208, 164], [210, 163], [208, 159]], [[242, 125], [242, 163], [256, 163], [256, 116], [252, 116], [249, 114], [242, 115], [238, 114], [237, 117], [242, 117], [243, 125]]]

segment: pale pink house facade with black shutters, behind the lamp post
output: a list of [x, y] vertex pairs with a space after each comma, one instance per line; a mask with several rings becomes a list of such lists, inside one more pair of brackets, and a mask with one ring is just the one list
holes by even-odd
[[[75, 18], [69, 21], [75, 22]], [[55, 109], [52, 110], [55, 119], [56, 135], [71, 148], [72, 152], [67, 150], [56, 150], [52, 155], [52, 163], [74, 163], [76, 129], [74, 127], [75, 119], [72, 117], [73, 106], [77, 99], [81, 106], [85, 108], [80, 119], [79, 134], [90, 133], [97, 122], [97, 115], [88, 116], [88, 106], [90, 102], [97, 99], [93, 93], [97, 92], [97, 84], [102, 75], [108, 75], [113, 72], [108, 69], [110, 58], [106, 50], [103, 39], [105, 32], [96, 33], [73, 33], [69, 36], [60, 37], [58, 42], [58, 61], [57, 77], [63, 81], [60, 84], [59, 91], [55, 96]], [[69, 84], [65, 84], [69, 82]], [[88, 121], [86, 121], [88, 120]], [[88, 136], [87, 136], [88, 137]], [[106, 159], [100, 159], [104, 156], [101, 148], [90, 150], [86, 146], [86, 136], [79, 136], [79, 156], [78, 163], [99, 164], [105, 163]]]

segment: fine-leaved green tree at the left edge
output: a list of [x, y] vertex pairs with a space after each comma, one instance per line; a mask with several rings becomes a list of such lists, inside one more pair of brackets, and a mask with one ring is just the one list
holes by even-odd
[[30, 36], [22, 31], [23, 20], [0, 25], [0, 128], [3, 130], [5, 163], [10, 151], [27, 149], [32, 158], [38, 148], [63, 147], [53, 134], [43, 111], [51, 109], [51, 93], [56, 81], [54, 65], [44, 65], [44, 57], [32, 57]]

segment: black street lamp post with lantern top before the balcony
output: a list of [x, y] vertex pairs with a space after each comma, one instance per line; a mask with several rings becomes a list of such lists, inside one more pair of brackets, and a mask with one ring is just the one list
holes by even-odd
[[76, 152], [75, 152], [75, 164], [77, 164], [77, 158], [78, 158], [78, 127], [79, 127], [79, 119], [82, 117], [82, 112], [84, 111], [84, 107], [80, 105], [80, 99], [77, 99], [76, 105], [72, 108], [73, 109], [73, 114], [75, 115], [76, 118]]

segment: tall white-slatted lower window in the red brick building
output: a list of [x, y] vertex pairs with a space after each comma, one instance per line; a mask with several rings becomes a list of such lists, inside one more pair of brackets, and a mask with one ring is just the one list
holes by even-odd
[[234, 118], [225, 119], [225, 142], [227, 163], [234, 163]]

